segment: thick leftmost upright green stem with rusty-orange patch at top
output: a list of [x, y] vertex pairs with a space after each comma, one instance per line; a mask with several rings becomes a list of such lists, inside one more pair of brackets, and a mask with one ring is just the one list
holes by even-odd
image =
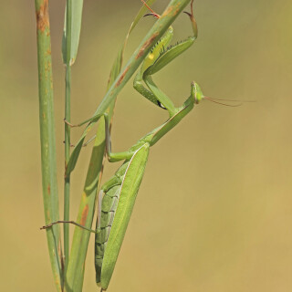
[[[36, 0], [39, 124], [42, 186], [46, 224], [59, 219], [56, 138], [48, 0]], [[47, 245], [57, 291], [62, 291], [59, 226], [47, 229]]]

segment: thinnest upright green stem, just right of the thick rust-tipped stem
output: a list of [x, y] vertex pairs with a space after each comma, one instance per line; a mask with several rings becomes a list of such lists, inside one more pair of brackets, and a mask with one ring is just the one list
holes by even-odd
[[[67, 0], [66, 5], [66, 91], [65, 91], [65, 120], [68, 122], [71, 120], [71, 29], [72, 29], [72, 17], [71, 17], [72, 2]], [[67, 168], [68, 160], [70, 157], [70, 127], [65, 123], [65, 169]], [[64, 177], [64, 221], [69, 220], [69, 208], [70, 208], [70, 173]], [[65, 274], [68, 267], [69, 260], [69, 225], [64, 224], [64, 255], [65, 255]]]

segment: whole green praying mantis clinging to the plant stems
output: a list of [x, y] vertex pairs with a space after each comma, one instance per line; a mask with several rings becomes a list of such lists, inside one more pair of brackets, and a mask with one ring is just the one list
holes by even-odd
[[[71, 223], [95, 233], [96, 281], [99, 287], [101, 287], [101, 291], [109, 287], [110, 278], [113, 274], [120, 253], [120, 247], [130, 221], [130, 215], [139, 191], [151, 146], [183, 120], [193, 110], [194, 104], [198, 104], [202, 99], [210, 99], [204, 97], [198, 84], [192, 82], [190, 97], [185, 100], [183, 106], [176, 108], [172, 100], [155, 85], [151, 78], [153, 74], [160, 71], [175, 57], [178, 57], [193, 45], [197, 37], [197, 26], [193, 16], [193, 1], [191, 3], [191, 13], [185, 13], [190, 17], [193, 35], [181, 43], [169, 46], [173, 36], [173, 28], [170, 26], [159, 42], [152, 47], [148, 56], [145, 57], [133, 83], [134, 89], [140, 92], [144, 98], [167, 110], [169, 119], [142, 137], [128, 151], [116, 153], [111, 151], [110, 119], [106, 113], [93, 116], [89, 120], [85, 120], [77, 125], [81, 126], [103, 117], [105, 120], [108, 159], [110, 162], [124, 161], [118, 171], [115, 172], [107, 183], [102, 185], [99, 191], [96, 230], [88, 229], [72, 221], [58, 221], [42, 227], [48, 228], [57, 223]], [[157, 18], [160, 17], [153, 11], [149, 15]], [[147, 88], [144, 87], [143, 83], [145, 83]], [[213, 99], [210, 100], [214, 101]]]

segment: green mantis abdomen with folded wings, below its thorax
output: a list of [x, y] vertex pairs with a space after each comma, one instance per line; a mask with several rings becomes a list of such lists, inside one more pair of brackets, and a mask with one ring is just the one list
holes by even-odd
[[130, 161], [124, 162], [110, 181], [102, 186], [99, 193], [101, 203], [95, 240], [95, 264], [96, 280], [103, 289], [110, 283], [120, 253], [120, 246], [143, 178], [149, 148], [148, 142], [143, 143], [134, 152]]

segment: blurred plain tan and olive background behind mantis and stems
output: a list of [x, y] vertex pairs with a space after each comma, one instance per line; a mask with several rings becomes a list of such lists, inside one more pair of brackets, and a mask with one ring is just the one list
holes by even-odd
[[[168, 1], [157, 1], [161, 13]], [[50, 1], [60, 209], [63, 189], [65, 1]], [[33, 1], [0, 5], [1, 291], [54, 291], [41, 194], [36, 17]], [[139, 0], [85, 1], [72, 69], [72, 120], [102, 99]], [[151, 149], [110, 291], [292, 290], [292, 2], [195, 1], [199, 37], [154, 76], [176, 105], [198, 82], [206, 96], [255, 100], [238, 108], [203, 101]], [[153, 24], [143, 18], [125, 59]], [[192, 32], [186, 16], [174, 40]], [[166, 120], [132, 89], [118, 98], [113, 150]], [[73, 130], [77, 141], [80, 130]], [[76, 218], [90, 148], [72, 175]], [[106, 166], [104, 179], [117, 165]], [[72, 232], [73, 233], [73, 228]], [[92, 236], [93, 238], [93, 236]], [[97, 291], [89, 244], [84, 291]]]

